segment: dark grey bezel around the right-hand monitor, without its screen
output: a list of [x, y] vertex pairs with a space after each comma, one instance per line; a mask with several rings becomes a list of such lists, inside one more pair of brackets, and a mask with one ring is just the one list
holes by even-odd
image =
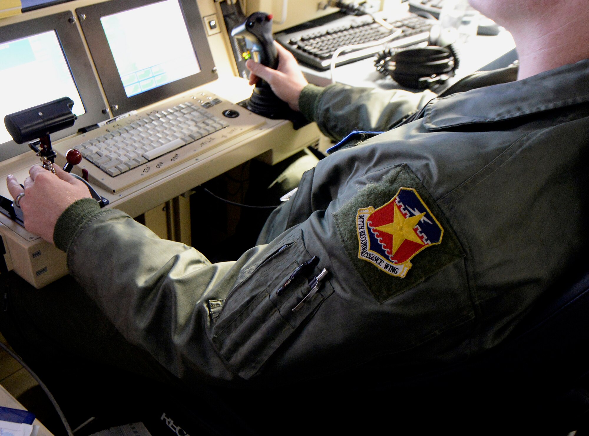
[[[188, 29], [188, 36], [193, 45], [194, 54], [201, 71], [174, 82], [161, 85], [140, 94], [127, 97], [123, 82], [118, 74], [117, 65], [110, 48], [107, 37], [102, 29], [100, 18], [105, 15], [159, 3], [164, 0], [110, 0], [103, 3], [77, 8], [78, 16], [85, 16], [80, 22], [84, 36], [90, 48], [90, 54], [94, 59], [98, 77], [102, 82], [102, 89], [107, 96], [112, 114], [117, 116], [133, 110], [138, 110], [147, 105], [156, 103], [174, 95], [184, 93], [192, 88], [204, 85], [217, 78], [213, 61], [213, 55], [209, 48], [207, 34], [195, 0], [177, 0], [184, 18], [184, 24]], [[155, 35], [157, 36], [157, 35]]]

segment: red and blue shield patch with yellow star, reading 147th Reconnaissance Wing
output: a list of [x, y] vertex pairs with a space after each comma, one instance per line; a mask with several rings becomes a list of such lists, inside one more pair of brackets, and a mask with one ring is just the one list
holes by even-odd
[[415, 189], [401, 187], [388, 203], [358, 209], [358, 258], [399, 278], [413, 256], [442, 242], [444, 229]]

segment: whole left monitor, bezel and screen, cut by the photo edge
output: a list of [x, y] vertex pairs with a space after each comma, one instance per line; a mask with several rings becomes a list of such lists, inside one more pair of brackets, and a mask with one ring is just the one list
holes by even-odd
[[4, 127], [5, 115], [61, 97], [74, 100], [74, 127], [60, 139], [108, 118], [100, 88], [71, 12], [0, 27], [0, 161], [28, 151]]

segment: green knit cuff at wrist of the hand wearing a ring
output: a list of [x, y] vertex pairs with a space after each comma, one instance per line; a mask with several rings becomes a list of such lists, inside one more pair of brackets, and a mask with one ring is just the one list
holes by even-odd
[[70, 204], [59, 216], [53, 231], [53, 243], [58, 249], [67, 253], [78, 230], [88, 220], [101, 213], [100, 206], [94, 199], [81, 199]]

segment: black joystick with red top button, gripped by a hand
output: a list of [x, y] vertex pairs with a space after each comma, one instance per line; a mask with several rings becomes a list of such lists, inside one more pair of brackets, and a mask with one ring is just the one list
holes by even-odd
[[[266, 67], [276, 70], [278, 53], [272, 37], [272, 15], [265, 12], [254, 12], [242, 24], [231, 31], [231, 36], [243, 39], [246, 51], [243, 58], [260, 62]], [[292, 118], [289, 105], [276, 97], [268, 82], [260, 79], [247, 100], [247, 109], [268, 118]]]

